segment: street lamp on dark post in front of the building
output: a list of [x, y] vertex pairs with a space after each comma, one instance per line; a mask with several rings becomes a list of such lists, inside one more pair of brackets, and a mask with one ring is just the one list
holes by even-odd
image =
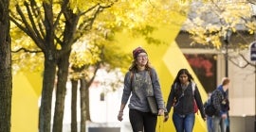
[[225, 75], [229, 76], [229, 42], [232, 35], [232, 29], [229, 27], [224, 34], [223, 41], [225, 42]]

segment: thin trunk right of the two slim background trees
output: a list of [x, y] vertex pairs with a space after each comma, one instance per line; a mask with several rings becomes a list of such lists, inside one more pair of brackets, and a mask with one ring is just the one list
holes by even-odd
[[81, 94], [81, 132], [86, 131], [86, 106], [85, 106], [85, 100], [86, 100], [86, 84], [85, 79], [81, 78], [81, 88], [80, 88], [80, 94]]

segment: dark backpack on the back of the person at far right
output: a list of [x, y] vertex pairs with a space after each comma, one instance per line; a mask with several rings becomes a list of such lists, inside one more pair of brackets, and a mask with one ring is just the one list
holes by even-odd
[[204, 108], [205, 108], [205, 113], [207, 116], [212, 117], [215, 113], [216, 113], [216, 108], [213, 106], [213, 99], [212, 99], [212, 95], [214, 94], [214, 92], [210, 95], [210, 99], [208, 99], [208, 101], [206, 102]]

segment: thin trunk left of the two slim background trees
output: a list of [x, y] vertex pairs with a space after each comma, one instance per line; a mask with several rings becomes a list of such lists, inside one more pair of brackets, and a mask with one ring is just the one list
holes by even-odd
[[72, 98], [71, 98], [71, 132], [78, 131], [77, 123], [77, 97], [78, 97], [78, 80], [71, 79], [72, 83]]

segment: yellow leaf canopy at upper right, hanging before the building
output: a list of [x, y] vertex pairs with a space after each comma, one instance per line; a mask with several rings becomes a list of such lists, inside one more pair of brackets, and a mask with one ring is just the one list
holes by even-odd
[[[191, 34], [193, 43], [209, 45], [220, 49], [228, 30], [241, 34], [253, 34], [255, 22], [252, 21], [253, 4], [247, 1], [194, 2], [188, 20], [184, 25]], [[233, 48], [247, 48], [249, 41], [237, 43]]]

